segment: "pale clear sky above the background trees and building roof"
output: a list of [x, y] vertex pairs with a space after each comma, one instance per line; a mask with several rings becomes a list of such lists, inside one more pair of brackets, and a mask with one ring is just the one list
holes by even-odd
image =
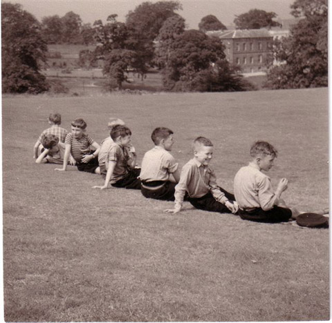
[[[54, 14], [62, 17], [66, 12], [73, 11], [80, 15], [84, 23], [93, 23], [98, 19], [106, 21], [109, 14], [118, 14], [118, 21], [124, 21], [129, 10], [134, 10], [145, 1], [147, 0], [6, 0], [6, 2], [20, 3], [24, 10], [32, 13], [39, 21], [42, 17]], [[292, 18], [290, 6], [294, 1], [180, 0], [183, 10], [178, 13], [185, 19], [188, 28], [197, 29], [201, 19], [208, 14], [214, 14], [224, 25], [229, 26], [233, 23], [235, 15], [255, 8], [275, 12], [282, 19]]]

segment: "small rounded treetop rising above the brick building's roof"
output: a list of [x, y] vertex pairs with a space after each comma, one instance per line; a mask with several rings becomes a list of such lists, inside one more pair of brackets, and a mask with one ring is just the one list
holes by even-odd
[[264, 10], [252, 9], [244, 14], [235, 16], [234, 24], [237, 29], [260, 29], [281, 26], [273, 19], [277, 17], [275, 12], [266, 12]]

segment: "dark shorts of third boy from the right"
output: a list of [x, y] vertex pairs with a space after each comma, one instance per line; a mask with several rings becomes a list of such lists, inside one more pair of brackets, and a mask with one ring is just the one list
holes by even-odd
[[142, 183], [140, 191], [147, 199], [174, 201], [175, 186], [176, 183], [169, 181], [144, 182]]

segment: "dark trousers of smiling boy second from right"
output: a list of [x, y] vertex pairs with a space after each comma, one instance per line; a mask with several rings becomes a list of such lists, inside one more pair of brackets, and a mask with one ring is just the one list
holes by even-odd
[[[220, 188], [220, 190], [225, 194], [225, 197], [227, 197], [230, 202], [233, 202], [235, 200], [233, 194], [228, 193], [228, 191], [224, 190], [223, 188]], [[216, 199], [210, 192], [199, 198], [188, 197], [188, 201], [190, 202], [190, 204], [192, 204], [195, 208], [198, 208], [199, 210], [219, 213], [232, 213], [232, 211], [230, 211], [227, 206], [216, 201]]]

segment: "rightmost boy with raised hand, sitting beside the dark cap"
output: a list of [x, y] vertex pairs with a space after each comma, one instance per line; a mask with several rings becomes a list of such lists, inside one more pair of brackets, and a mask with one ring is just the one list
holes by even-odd
[[[252, 160], [248, 166], [240, 168], [234, 178], [234, 195], [239, 204], [242, 219], [256, 222], [288, 222], [296, 219], [302, 212], [286, 205], [281, 195], [287, 189], [286, 178], [280, 180], [277, 190], [273, 190], [270, 177], [261, 172], [268, 172], [273, 167], [277, 150], [266, 141], [256, 141], [250, 148]], [[328, 210], [315, 211], [323, 215]]]

